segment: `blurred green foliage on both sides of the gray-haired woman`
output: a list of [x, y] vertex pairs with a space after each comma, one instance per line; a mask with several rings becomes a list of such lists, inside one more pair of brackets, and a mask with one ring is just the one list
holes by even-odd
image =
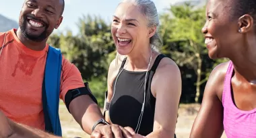
[[[181, 102], [200, 102], [210, 72], [228, 59], [213, 61], [207, 55], [201, 28], [205, 24], [205, 7], [195, 8], [189, 3], [170, 6], [160, 15], [162, 53], [174, 60], [181, 70], [183, 92]], [[79, 34], [53, 34], [49, 44], [61, 48], [65, 58], [74, 63], [88, 81], [99, 105], [104, 104], [108, 66], [116, 55], [110, 24], [100, 17], [84, 15], [77, 22]]]

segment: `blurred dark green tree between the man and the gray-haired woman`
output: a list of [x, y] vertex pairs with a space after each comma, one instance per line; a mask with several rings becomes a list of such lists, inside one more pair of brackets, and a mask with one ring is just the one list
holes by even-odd
[[82, 16], [77, 26], [77, 36], [67, 30], [65, 35], [51, 35], [48, 43], [61, 48], [65, 58], [79, 69], [84, 81], [90, 82], [90, 88], [102, 106], [108, 65], [115, 58], [110, 54], [115, 53], [110, 26], [101, 18], [92, 18], [90, 15]]

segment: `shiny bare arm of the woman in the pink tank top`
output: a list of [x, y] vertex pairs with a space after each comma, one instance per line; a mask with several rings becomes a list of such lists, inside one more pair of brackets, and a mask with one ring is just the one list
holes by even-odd
[[205, 86], [201, 108], [191, 130], [191, 138], [221, 137], [223, 129], [222, 90], [227, 63], [218, 65]]

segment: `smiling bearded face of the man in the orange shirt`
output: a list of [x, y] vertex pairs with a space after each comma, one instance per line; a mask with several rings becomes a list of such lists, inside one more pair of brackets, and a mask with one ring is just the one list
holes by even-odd
[[26, 0], [19, 19], [22, 34], [36, 42], [45, 40], [61, 24], [62, 10], [62, 0]]

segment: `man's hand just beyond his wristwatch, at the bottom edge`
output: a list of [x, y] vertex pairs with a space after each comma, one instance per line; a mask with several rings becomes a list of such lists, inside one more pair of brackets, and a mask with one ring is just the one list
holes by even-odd
[[133, 134], [135, 133], [131, 128], [128, 131], [119, 125], [99, 124], [92, 132], [91, 138], [133, 138]]

